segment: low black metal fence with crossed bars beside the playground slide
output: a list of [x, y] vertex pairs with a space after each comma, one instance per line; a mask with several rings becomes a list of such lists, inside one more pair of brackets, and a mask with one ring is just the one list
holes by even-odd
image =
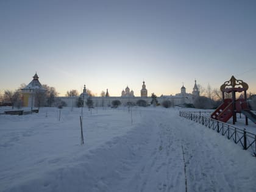
[[202, 116], [202, 112], [180, 111], [180, 116], [200, 123], [209, 129], [216, 130], [216, 132], [226, 136], [229, 140], [231, 139], [236, 144], [240, 144], [244, 150], [249, 149], [249, 151], [251, 151], [256, 157], [256, 135], [254, 133], [247, 132], [246, 129], [240, 129], [230, 124], [212, 119], [210, 118], [210, 115]]

